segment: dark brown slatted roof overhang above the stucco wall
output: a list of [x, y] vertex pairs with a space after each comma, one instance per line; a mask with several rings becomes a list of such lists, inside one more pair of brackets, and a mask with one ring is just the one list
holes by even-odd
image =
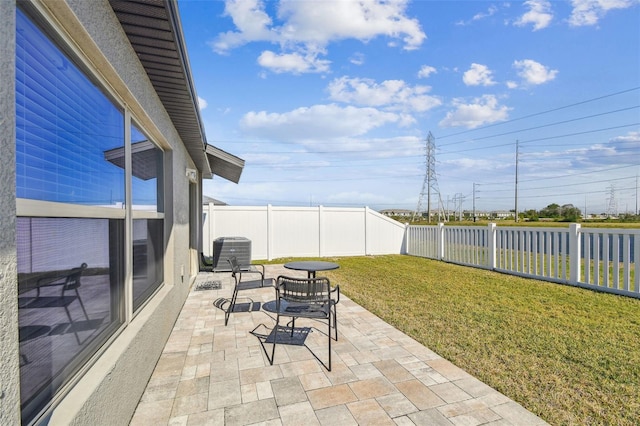
[[[176, 1], [109, 0], [109, 3], [202, 177], [210, 179], [217, 174], [228, 179], [211, 170], [210, 156], [205, 153], [210, 145], [200, 116]], [[239, 180], [239, 173], [233, 182]]]

